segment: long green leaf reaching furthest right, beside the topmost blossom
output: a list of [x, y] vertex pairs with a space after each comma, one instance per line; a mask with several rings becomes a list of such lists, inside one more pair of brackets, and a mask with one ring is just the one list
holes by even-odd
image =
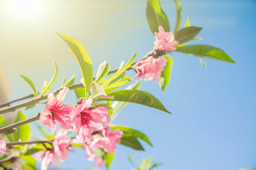
[[176, 52], [183, 52], [197, 57], [208, 57], [214, 60], [223, 60], [225, 62], [235, 63], [235, 61], [232, 60], [232, 58], [230, 58], [223, 50], [210, 45], [184, 45], [176, 48]]

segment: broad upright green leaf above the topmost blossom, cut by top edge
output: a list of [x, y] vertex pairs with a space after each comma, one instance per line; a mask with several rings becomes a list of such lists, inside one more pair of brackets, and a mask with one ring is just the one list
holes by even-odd
[[146, 18], [153, 34], [159, 32], [159, 26], [164, 27], [166, 32], [170, 31], [169, 21], [164, 10], [161, 8], [160, 0], [147, 1]]

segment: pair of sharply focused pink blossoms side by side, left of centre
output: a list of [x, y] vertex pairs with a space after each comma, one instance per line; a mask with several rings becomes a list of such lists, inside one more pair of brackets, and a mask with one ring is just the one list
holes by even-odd
[[92, 99], [84, 100], [76, 107], [63, 105], [68, 90], [68, 87], [64, 87], [56, 98], [53, 94], [48, 95], [48, 103], [45, 111], [41, 113], [40, 120], [43, 125], [48, 125], [52, 132], [58, 127], [55, 121], [58, 121], [63, 129], [73, 129], [75, 125], [78, 141], [87, 142], [92, 137], [92, 132], [102, 130], [110, 123], [110, 114], [105, 107], [92, 108]]

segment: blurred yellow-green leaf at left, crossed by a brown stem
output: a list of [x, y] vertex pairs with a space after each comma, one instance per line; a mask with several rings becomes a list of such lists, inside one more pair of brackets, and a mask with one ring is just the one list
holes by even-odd
[[[26, 120], [26, 116], [21, 111], [18, 111], [14, 115], [14, 123], [21, 122], [23, 120]], [[22, 142], [26, 142], [30, 139], [30, 137], [31, 137], [31, 128], [29, 127], [28, 124], [21, 125], [21, 126], [17, 127], [16, 129], [18, 130], [18, 132], [16, 132], [14, 134], [14, 139], [16, 141], [21, 139]]]

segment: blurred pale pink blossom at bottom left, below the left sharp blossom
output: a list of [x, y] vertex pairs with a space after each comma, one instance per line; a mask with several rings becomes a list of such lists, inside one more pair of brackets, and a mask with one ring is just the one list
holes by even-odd
[[53, 140], [53, 149], [36, 153], [38, 159], [43, 159], [41, 170], [48, 169], [50, 164], [64, 162], [68, 159], [70, 151], [70, 137], [63, 129], [58, 130]]

